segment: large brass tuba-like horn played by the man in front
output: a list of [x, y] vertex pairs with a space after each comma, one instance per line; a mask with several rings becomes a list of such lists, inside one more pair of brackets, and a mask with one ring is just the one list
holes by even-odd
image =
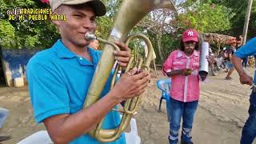
[[[150, 67], [150, 62], [153, 60], [153, 46], [148, 38], [142, 34], [134, 34], [127, 38], [129, 31], [142, 19], [149, 14], [151, 10], [167, 8], [170, 10], [175, 10], [172, 0], [124, 0], [120, 6], [118, 13], [115, 17], [114, 25], [110, 32], [108, 40], [103, 40], [97, 38], [99, 41], [105, 42], [106, 45], [103, 47], [102, 57], [98, 62], [98, 66], [95, 70], [93, 80], [90, 84], [90, 89], [86, 95], [86, 100], [84, 107], [92, 105], [97, 102], [102, 94], [102, 90], [106, 84], [107, 78], [110, 75], [111, 69], [114, 66], [114, 50], [118, 50], [118, 46], [114, 45], [115, 41], [129, 43], [132, 38], [142, 38], [146, 45], [148, 46], [148, 54], [146, 62], [138, 62], [138, 67], [142, 70], [148, 70]], [[86, 38], [95, 39], [94, 35], [86, 34]], [[130, 58], [130, 62], [126, 67], [126, 71], [130, 69], [133, 57]], [[119, 70], [119, 66], [116, 67], [114, 74]], [[114, 79], [114, 78], [113, 78]], [[112, 82], [113, 84], [113, 82]], [[131, 98], [126, 100], [124, 106], [124, 114], [122, 115], [122, 120], [120, 125], [113, 130], [103, 130], [102, 122], [99, 122], [95, 130], [90, 131], [90, 136], [96, 138], [100, 142], [113, 142], [120, 137], [120, 134], [129, 125], [130, 119], [137, 110], [138, 102], [140, 101], [140, 96], [136, 98]]]

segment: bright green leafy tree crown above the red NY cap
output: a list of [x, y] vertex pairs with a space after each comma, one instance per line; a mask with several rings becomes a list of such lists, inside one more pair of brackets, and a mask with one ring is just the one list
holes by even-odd
[[178, 30], [193, 28], [199, 32], [216, 32], [230, 29], [230, 19], [234, 17], [225, 6], [199, 2], [192, 5], [175, 20]]

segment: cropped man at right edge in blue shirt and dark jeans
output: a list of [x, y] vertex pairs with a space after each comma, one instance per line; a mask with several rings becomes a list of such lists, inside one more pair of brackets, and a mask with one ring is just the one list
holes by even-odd
[[245, 126], [242, 129], [241, 144], [250, 144], [254, 142], [256, 137], [256, 74], [254, 73], [254, 80], [245, 70], [242, 68], [242, 58], [246, 58], [250, 55], [256, 54], [256, 38], [251, 39], [246, 45], [238, 49], [234, 56], [232, 57], [232, 63], [234, 68], [238, 71], [240, 76], [240, 82], [246, 85], [254, 85], [252, 93], [250, 94], [250, 108], [249, 108], [249, 118], [247, 119]]

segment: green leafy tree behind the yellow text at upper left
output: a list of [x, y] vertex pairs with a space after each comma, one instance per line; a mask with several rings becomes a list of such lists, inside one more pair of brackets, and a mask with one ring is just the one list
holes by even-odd
[[[42, 9], [50, 8], [41, 1], [0, 0], [0, 38], [1, 45], [5, 48], [46, 48], [53, 44], [59, 35], [56, 27], [50, 21], [9, 20], [7, 10], [23, 9]], [[15, 16], [18, 17], [18, 14]], [[8, 34], [6, 34], [8, 33]], [[46, 35], [47, 34], [47, 35]]]

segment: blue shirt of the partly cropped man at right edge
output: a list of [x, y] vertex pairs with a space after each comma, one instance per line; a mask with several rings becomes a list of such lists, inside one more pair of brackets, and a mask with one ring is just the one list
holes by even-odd
[[[239, 48], [235, 53], [235, 56], [238, 58], [246, 58], [250, 55], [256, 55], [256, 38], [250, 39], [250, 41], [246, 42], [246, 45], [243, 45]], [[254, 84], [256, 84], [256, 75], [254, 71]]]

